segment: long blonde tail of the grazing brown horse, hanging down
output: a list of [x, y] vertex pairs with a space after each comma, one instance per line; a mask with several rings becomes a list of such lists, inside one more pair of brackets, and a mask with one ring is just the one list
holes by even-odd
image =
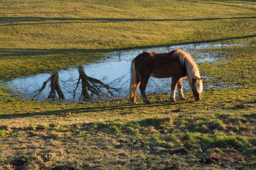
[[140, 82], [138, 81], [137, 71], [135, 69], [135, 59], [132, 60], [130, 77], [130, 104], [136, 104], [136, 92]]

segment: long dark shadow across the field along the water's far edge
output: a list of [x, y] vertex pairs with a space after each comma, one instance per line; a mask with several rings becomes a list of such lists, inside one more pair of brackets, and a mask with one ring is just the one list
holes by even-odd
[[[256, 37], [256, 34], [247, 35], [247, 36], [238, 36], [238, 37], [228, 37], [222, 39], [215, 40], [206, 40], [206, 41], [194, 41], [187, 43], [173, 43], [173, 44], [165, 44], [159, 45], [161, 46], [174, 46], [174, 45], [185, 45], [185, 44], [194, 44], [194, 43], [207, 43], [207, 42], [218, 42], [225, 40], [236, 40], [236, 39], [244, 39]], [[35, 48], [0, 48], [0, 57], [8, 57], [8, 56], [38, 56], [38, 55], [55, 55], [55, 54], [85, 54], [85, 53], [109, 53], [113, 51], [123, 51], [127, 49], [139, 49], [139, 48], [152, 48], [156, 46], [137, 46], [135, 48], [113, 48], [113, 49], [35, 49]]]

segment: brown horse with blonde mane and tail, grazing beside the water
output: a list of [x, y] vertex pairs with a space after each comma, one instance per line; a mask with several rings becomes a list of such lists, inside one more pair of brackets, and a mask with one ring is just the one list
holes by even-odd
[[130, 76], [130, 103], [136, 104], [136, 91], [140, 86], [143, 102], [150, 104], [145, 93], [149, 77], [168, 78], [171, 82], [171, 102], [176, 102], [175, 91], [178, 86], [179, 97], [186, 100], [182, 93], [182, 78], [187, 77], [195, 100], [201, 99], [203, 77], [200, 77], [195, 61], [185, 51], [174, 49], [170, 53], [139, 54], [132, 60]]

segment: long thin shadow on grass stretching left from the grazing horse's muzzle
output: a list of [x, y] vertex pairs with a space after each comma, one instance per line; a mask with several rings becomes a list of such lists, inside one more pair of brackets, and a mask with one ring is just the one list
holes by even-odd
[[[35, 113], [18, 113], [18, 114], [2, 114], [0, 115], [1, 119], [15, 119], [15, 118], [25, 118], [25, 117], [34, 117], [34, 116], [43, 116], [43, 115], [55, 115], [55, 116], [62, 116], [65, 113], [72, 113], [72, 114], [79, 114], [79, 113], [97, 113], [102, 111], [121, 111], [124, 109], [136, 109], [136, 108], [144, 108], [144, 107], [166, 107], [169, 105], [179, 105], [179, 104], [188, 104], [193, 103], [195, 101], [187, 101], [187, 102], [177, 102], [177, 103], [170, 103], [164, 102], [162, 104], [159, 103], [152, 103], [150, 105], [146, 104], [137, 104], [137, 105], [130, 105], [130, 104], [121, 104], [121, 105], [112, 105], [112, 106], [97, 106], [97, 107], [85, 107], [83, 108], [72, 108], [72, 109], [64, 109], [64, 110], [53, 110], [53, 111], [44, 111], [44, 112], [35, 112]], [[82, 106], [82, 105], [81, 105]]]

